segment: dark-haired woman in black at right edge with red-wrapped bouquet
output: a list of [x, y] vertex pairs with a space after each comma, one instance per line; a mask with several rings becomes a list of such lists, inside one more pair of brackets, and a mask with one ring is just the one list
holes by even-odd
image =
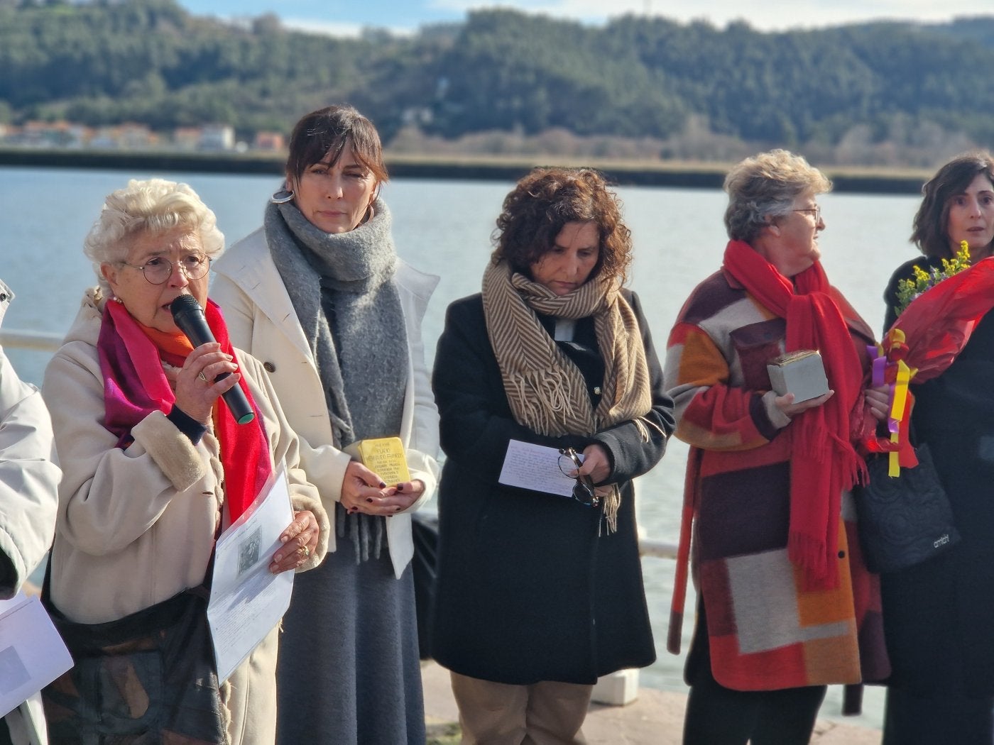
[[[994, 731], [990, 486], [994, 483], [994, 313], [984, 311], [994, 304], [990, 278], [994, 265], [983, 259], [991, 255], [994, 241], [994, 159], [988, 153], [955, 158], [922, 192], [911, 241], [924, 256], [894, 273], [885, 293], [887, 328], [896, 326], [907, 333], [910, 356], [946, 359], [944, 372], [929, 371], [931, 379], [918, 384], [915, 379], [924, 374], [911, 378], [911, 426], [916, 441], [928, 443], [962, 539], [940, 555], [882, 577], [894, 668], [888, 683], [884, 743], [990, 743]], [[973, 267], [954, 280], [943, 279], [964, 241]], [[938, 282], [911, 301], [911, 309], [926, 319], [920, 331], [911, 326], [911, 309], [899, 318], [901, 300], [906, 299], [900, 296], [907, 294], [907, 281], [915, 281], [915, 268], [929, 275], [925, 284]], [[932, 312], [940, 301], [948, 310]], [[966, 304], [973, 308], [957, 313]], [[962, 333], [949, 343], [945, 337], [955, 328], [962, 328]], [[926, 341], [931, 329], [946, 333]]]

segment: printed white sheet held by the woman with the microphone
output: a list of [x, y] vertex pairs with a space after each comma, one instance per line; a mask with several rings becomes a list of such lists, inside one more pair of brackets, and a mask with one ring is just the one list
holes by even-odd
[[222, 682], [265, 639], [290, 605], [293, 572], [272, 574], [268, 567], [282, 545], [280, 533], [292, 520], [286, 472], [280, 468], [245, 514], [218, 538], [207, 621]]

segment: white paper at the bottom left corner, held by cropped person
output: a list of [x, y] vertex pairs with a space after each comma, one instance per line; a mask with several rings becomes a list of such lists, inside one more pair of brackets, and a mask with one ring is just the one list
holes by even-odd
[[37, 597], [0, 600], [0, 717], [73, 667], [73, 658]]

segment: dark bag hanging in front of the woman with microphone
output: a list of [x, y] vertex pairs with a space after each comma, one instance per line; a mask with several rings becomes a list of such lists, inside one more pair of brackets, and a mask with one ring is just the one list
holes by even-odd
[[74, 667], [42, 689], [49, 738], [61, 745], [228, 742], [201, 585], [116, 621], [81, 624], [42, 601]]

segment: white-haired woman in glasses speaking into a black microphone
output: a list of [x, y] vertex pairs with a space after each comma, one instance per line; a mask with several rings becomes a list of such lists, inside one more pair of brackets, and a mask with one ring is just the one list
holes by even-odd
[[[55, 742], [275, 737], [276, 631], [219, 685], [204, 583], [217, 537], [280, 464], [294, 517], [269, 571], [315, 566], [327, 516], [261, 364], [231, 346], [208, 300], [223, 249], [214, 213], [161, 179], [110, 194], [86, 236], [99, 286], [43, 386], [63, 467], [44, 594], [77, 663], [44, 693]], [[183, 294], [217, 341], [195, 348], [177, 327]], [[222, 397], [236, 385], [247, 424]]]

